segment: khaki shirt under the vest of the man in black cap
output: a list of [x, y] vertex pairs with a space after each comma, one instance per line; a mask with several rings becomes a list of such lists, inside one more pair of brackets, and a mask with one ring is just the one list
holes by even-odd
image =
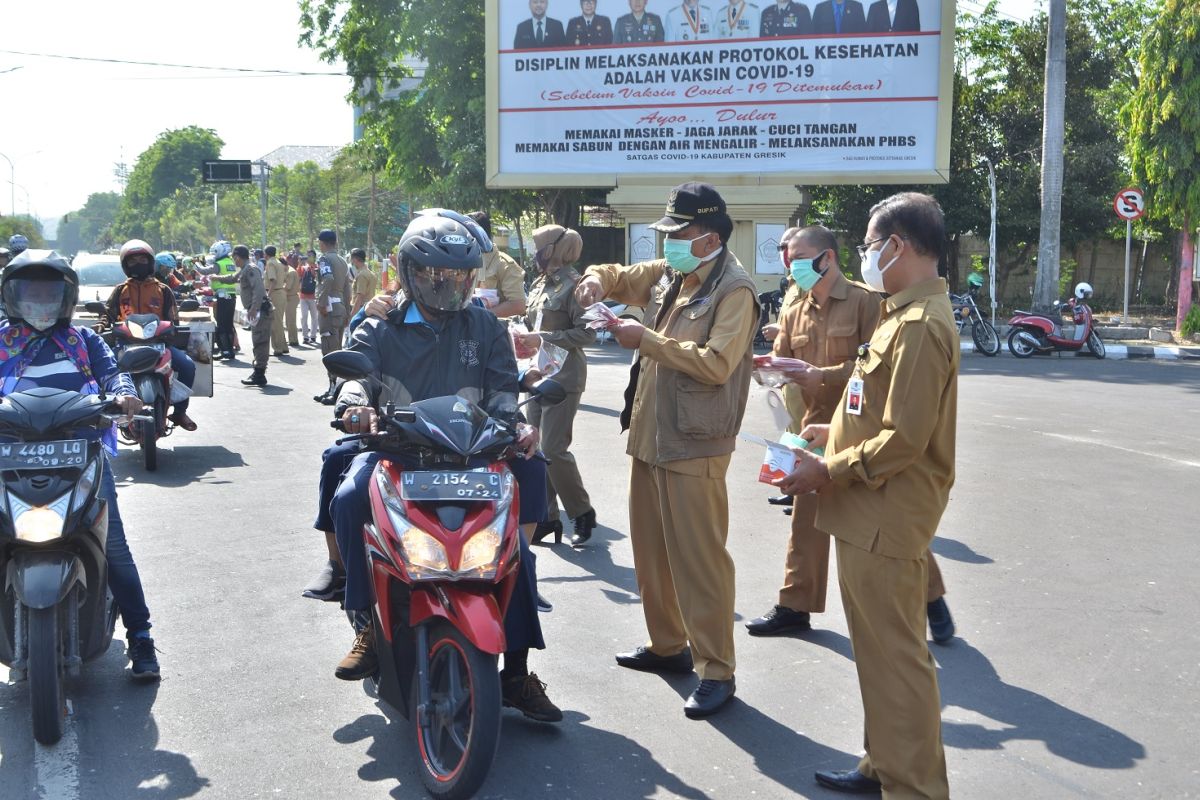
[[[737, 263], [733, 253], [728, 257]], [[683, 289], [676, 297], [672, 308], [685, 306], [691, 296], [703, 285], [709, 272], [719, 261], [714, 258], [706, 261], [698, 270], [684, 278]], [[740, 264], [739, 264], [740, 265]], [[600, 278], [605, 296], [617, 302], [631, 306], [646, 306], [650, 301], [650, 290], [665, 275], [666, 261], [643, 261], [622, 267], [617, 264], [605, 264], [588, 267], [587, 275]], [[642, 392], [642, 408], [655, 408], [658, 387], [658, 368], [664, 365], [686, 373], [692, 378], [712, 385], [725, 384], [745, 357], [754, 342], [755, 326], [758, 320], [758, 303], [751, 289], [737, 289], [725, 297], [713, 313], [713, 327], [708, 342], [677, 342], [653, 330], [654, 320], [644, 320], [646, 333], [638, 353], [642, 359], [638, 387]], [[629, 427], [629, 447], [626, 452], [643, 461], [674, 473], [701, 477], [722, 477], [728, 467], [730, 457], [682, 458], [661, 462], [658, 446], [658, 421], [654, 414], [635, 414]]]

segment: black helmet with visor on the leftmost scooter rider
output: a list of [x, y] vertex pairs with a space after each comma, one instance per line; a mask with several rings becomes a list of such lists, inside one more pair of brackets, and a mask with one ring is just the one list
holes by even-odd
[[79, 299], [79, 277], [53, 249], [26, 249], [0, 273], [0, 297], [10, 319], [49, 330], [71, 321]]

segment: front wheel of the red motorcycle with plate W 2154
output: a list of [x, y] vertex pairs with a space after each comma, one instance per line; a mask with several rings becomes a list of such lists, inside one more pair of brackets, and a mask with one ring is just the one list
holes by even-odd
[[[484, 784], [500, 741], [500, 676], [496, 656], [458, 628], [430, 626], [430, 708], [414, 712], [421, 780], [434, 798], [470, 798]], [[420, 703], [413, 686], [413, 709]], [[424, 724], [422, 724], [424, 722]]]

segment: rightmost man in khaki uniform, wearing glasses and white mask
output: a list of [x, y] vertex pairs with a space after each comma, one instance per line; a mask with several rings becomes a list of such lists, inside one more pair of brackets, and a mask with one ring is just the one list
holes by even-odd
[[863, 694], [866, 754], [818, 771], [840, 792], [949, 798], [937, 672], [925, 644], [925, 553], [954, 483], [959, 336], [937, 277], [937, 200], [895, 194], [874, 209], [863, 279], [890, 295], [833, 422], [804, 432], [826, 457], [797, 451], [779, 481], [817, 491], [817, 528], [838, 540], [838, 579]]

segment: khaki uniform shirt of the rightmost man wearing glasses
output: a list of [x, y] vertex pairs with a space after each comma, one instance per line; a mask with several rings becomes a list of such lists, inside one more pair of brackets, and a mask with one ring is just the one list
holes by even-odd
[[834, 485], [820, 494], [816, 525], [864, 551], [914, 560], [954, 485], [959, 336], [942, 278], [888, 297], [882, 314], [851, 375], [863, 381], [862, 414], [844, 398], [833, 415], [826, 464]]

